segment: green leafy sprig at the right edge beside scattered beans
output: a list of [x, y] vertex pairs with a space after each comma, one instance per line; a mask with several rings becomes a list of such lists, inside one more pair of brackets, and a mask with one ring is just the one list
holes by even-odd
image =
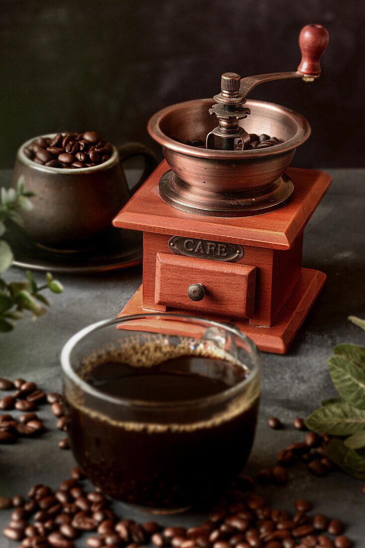
[[[365, 329], [363, 319], [349, 319]], [[350, 475], [365, 479], [365, 347], [335, 346], [328, 368], [339, 397], [322, 401], [305, 424], [334, 436], [327, 446], [328, 457]]]

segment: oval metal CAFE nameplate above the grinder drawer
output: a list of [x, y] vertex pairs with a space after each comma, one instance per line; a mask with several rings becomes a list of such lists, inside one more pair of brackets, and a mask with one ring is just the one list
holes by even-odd
[[176, 255], [198, 257], [211, 261], [235, 262], [243, 257], [243, 249], [238, 244], [186, 236], [173, 236], [170, 238], [169, 248]]

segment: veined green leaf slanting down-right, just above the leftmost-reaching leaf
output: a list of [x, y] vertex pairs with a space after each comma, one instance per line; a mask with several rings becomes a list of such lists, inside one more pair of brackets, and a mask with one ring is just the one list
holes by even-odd
[[328, 359], [328, 368], [339, 395], [350, 405], [365, 408], [365, 367], [360, 367], [345, 356]]

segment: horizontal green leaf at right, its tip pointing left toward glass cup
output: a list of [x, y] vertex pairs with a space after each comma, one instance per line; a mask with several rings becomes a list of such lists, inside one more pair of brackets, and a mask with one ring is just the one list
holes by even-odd
[[365, 410], [356, 409], [347, 402], [329, 404], [309, 415], [305, 425], [309, 430], [331, 436], [350, 436], [365, 427]]

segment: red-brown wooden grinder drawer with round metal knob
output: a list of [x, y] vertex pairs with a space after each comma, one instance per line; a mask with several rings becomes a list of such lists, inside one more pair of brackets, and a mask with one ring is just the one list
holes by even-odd
[[157, 253], [155, 304], [251, 318], [255, 278], [254, 266]]

